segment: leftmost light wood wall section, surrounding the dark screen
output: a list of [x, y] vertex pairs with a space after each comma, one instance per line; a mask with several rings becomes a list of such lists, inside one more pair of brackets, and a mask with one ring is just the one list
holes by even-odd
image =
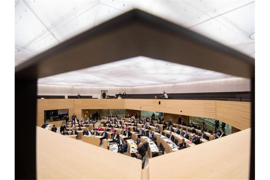
[[[37, 99], [37, 126], [44, 124], [44, 111], [56, 109], [69, 109], [69, 117], [71, 118], [74, 111], [74, 99]], [[56, 126], [62, 124], [62, 121], [54, 122]]]

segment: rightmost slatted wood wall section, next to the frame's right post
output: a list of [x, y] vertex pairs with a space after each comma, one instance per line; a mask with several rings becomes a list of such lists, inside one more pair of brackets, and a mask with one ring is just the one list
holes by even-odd
[[218, 120], [240, 130], [251, 127], [250, 102], [217, 101], [216, 109]]

